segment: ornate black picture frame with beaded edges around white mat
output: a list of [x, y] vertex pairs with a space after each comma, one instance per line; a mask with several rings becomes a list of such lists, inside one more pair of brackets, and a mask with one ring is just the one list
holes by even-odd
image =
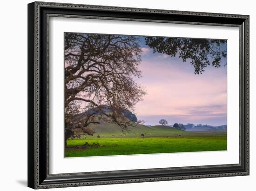
[[[239, 163], [51, 174], [49, 19], [226, 26], [239, 29]], [[34, 189], [249, 175], [249, 16], [50, 2], [28, 4], [28, 187]]]

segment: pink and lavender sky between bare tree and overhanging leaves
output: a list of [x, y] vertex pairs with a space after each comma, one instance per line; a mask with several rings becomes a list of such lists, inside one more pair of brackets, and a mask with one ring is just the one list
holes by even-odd
[[139, 37], [142, 77], [135, 79], [147, 94], [135, 105], [134, 112], [145, 125], [159, 125], [160, 119], [174, 123], [208, 125], [227, 124], [227, 63], [207, 66], [202, 74], [194, 74], [187, 60], [153, 53]]

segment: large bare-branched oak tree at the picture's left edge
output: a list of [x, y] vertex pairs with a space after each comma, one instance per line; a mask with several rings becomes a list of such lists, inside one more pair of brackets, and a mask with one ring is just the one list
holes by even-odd
[[100, 120], [115, 123], [122, 131], [139, 123], [123, 115], [145, 94], [134, 80], [141, 77], [137, 37], [65, 33], [64, 41], [65, 139], [74, 128], [93, 134], [88, 126]]

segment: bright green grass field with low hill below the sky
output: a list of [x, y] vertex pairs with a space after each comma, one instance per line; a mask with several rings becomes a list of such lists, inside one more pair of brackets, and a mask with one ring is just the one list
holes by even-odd
[[[99, 128], [98, 128], [99, 130]], [[151, 153], [172, 153], [192, 151], [225, 151], [227, 150], [227, 133], [223, 132], [187, 132], [168, 126], [140, 126], [123, 135], [112, 129], [112, 133], [98, 131], [84, 139], [68, 139], [65, 157], [88, 157], [131, 155]], [[145, 138], [141, 138], [144, 133]], [[101, 138], [97, 138], [97, 134]], [[80, 148], [85, 142], [97, 148]]]

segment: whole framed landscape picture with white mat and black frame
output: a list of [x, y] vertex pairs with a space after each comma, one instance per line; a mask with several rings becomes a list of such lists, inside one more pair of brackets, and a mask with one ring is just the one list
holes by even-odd
[[28, 4], [28, 186], [249, 175], [249, 16]]

